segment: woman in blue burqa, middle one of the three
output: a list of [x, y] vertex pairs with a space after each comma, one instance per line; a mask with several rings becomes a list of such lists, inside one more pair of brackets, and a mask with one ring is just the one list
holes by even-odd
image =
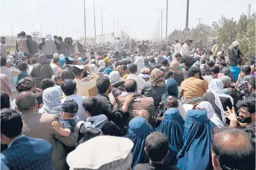
[[169, 140], [169, 154], [164, 164], [177, 165], [177, 154], [183, 147], [184, 119], [177, 108], [169, 108], [164, 112], [161, 124], [156, 132], [162, 132]]

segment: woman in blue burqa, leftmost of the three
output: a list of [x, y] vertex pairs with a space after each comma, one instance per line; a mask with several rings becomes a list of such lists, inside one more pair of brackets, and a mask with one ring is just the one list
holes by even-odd
[[134, 142], [134, 147], [132, 148], [132, 169], [137, 164], [149, 163], [149, 157], [146, 155], [144, 148], [146, 137], [151, 132], [153, 132], [153, 129], [150, 128], [143, 117], [135, 117], [129, 122], [129, 130], [124, 138], [129, 138]]

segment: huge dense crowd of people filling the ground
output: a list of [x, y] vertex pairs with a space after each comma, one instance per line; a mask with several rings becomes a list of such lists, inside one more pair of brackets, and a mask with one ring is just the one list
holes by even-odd
[[255, 59], [132, 40], [1, 37], [1, 169], [255, 169]]

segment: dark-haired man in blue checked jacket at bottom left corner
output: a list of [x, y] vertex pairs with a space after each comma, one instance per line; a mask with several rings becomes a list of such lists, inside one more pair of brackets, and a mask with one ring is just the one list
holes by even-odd
[[22, 116], [12, 108], [1, 110], [1, 169], [54, 169], [52, 146], [43, 139], [22, 135]]

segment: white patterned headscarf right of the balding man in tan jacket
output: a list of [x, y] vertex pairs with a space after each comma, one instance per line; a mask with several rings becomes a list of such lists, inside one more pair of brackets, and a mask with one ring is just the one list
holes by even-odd
[[61, 114], [61, 95], [55, 87], [47, 88], [43, 92], [42, 109], [48, 114]]

